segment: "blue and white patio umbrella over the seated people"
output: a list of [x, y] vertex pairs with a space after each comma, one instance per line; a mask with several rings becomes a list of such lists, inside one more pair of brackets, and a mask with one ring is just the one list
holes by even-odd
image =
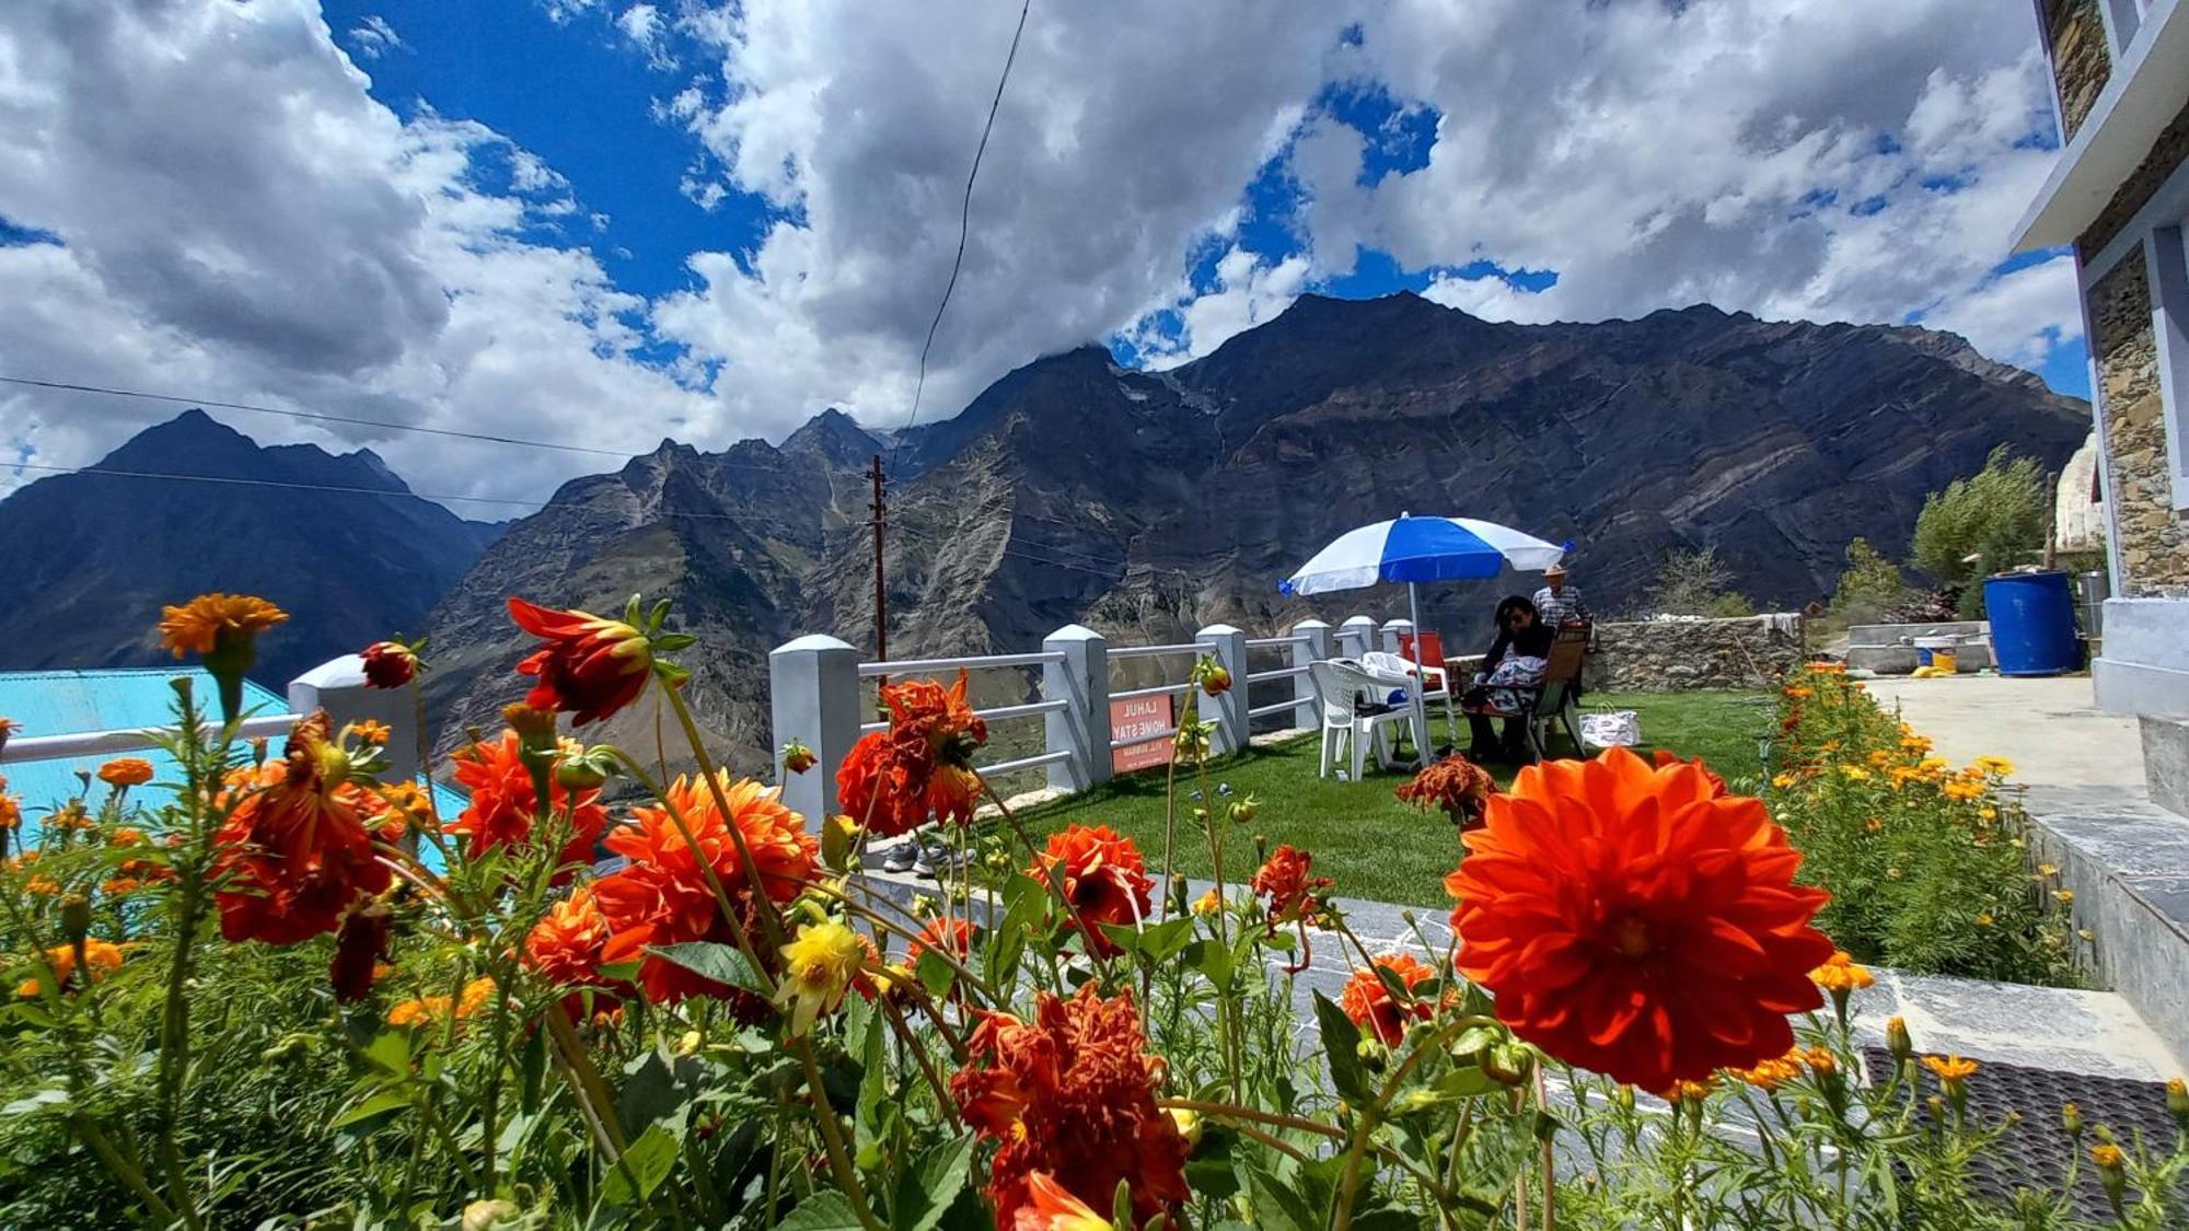
[[[1421, 596], [1414, 589], [1418, 583], [1489, 578], [1504, 572], [1506, 565], [1517, 572], [1543, 572], [1565, 559], [1565, 550], [1495, 521], [1399, 515], [1390, 521], [1346, 530], [1298, 572], [1276, 583], [1276, 589], [1287, 596], [1307, 596], [1403, 580], [1408, 613], [1418, 633]], [[1429, 721], [1421, 712], [1421, 688], [1410, 692], [1414, 699], [1414, 745], [1427, 758]]]

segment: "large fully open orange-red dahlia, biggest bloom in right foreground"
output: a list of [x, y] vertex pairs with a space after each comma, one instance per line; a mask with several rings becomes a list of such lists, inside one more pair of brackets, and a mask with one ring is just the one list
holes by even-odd
[[1760, 799], [1609, 749], [1519, 771], [1445, 878], [1458, 970], [1543, 1051], [1646, 1091], [1749, 1069], [1823, 1005], [1826, 894]]

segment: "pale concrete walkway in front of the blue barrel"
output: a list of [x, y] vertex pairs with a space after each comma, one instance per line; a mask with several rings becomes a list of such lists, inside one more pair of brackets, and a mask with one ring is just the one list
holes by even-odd
[[2119, 786], [2145, 797], [2136, 721], [2099, 710], [2084, 675], [1878, 677], [1865, 683], [1878, 705], [1898, 703], [1902, 718], [1931, 736], [1946, 760], [2003, 756], [2014, 762], [2014, 780], [2029, 786]]

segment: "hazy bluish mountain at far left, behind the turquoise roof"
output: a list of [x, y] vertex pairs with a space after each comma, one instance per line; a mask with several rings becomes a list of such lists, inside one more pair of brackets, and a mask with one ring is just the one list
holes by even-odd
[[420, 633], [499, 530], [412, 495], [370, 449], [260, 447], [197, 410], [94, 469], [250, 486], [72, 473], [9, 495], [0, 670], [173, 661], [153, 629], [160, 605], [230, 589], [289, 611], [252, 672], [280, 688], [333, 655]]

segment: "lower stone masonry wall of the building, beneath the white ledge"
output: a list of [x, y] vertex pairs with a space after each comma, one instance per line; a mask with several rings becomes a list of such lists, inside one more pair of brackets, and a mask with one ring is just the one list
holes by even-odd
[[2121, 537], [2123, 576], [2115, 583], [2126, 598], [2189, 596], [2189, 521], [2174, 508], [2167, 475], [2158, 337], [2141, 252], [2090, 287], [2090, 329]]

